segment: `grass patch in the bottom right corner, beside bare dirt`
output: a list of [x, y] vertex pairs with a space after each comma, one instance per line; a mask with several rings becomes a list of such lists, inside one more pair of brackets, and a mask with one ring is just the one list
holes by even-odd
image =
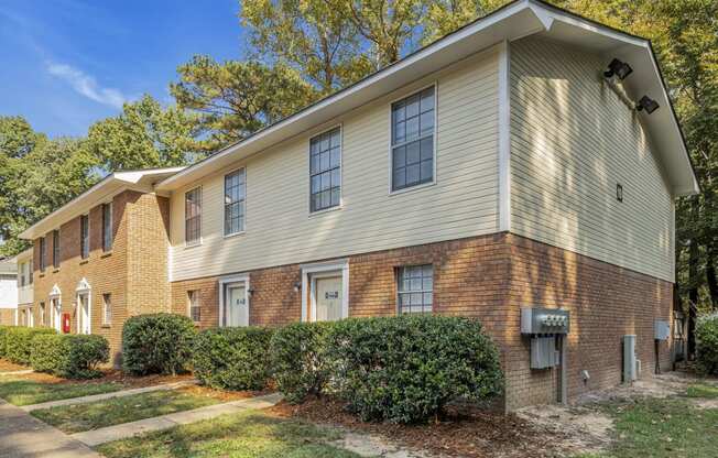
[[616, 443], [610, 450], [583, 458], [708, 458], [717, 456], [718, 410], [699, 410], [686, 400], [648, 399], [610, 405]]

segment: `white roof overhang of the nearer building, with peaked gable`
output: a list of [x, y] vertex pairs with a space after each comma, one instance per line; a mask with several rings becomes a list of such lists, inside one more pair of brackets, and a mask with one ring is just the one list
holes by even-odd
[[253, 135], [166, 178], [157, 190], [172, 192], [272, 145], [328, 122], [454, 62], [502, 41], [541, 34], [629, 62], [634, 74], [625, 80], [631, 97], [648, 95], [661, 105], [639, 116], [666, 171], [674, 195], [699, 190], [675, 112], [649, 41], [597, 24], [537, 0], [519, 0], [479, 19], [403, 59], [368, 76]]

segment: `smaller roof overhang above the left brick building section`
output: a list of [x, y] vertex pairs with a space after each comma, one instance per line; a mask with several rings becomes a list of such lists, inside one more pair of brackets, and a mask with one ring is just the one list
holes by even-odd
[[126, 189], [153, 193], [156, 183], [174, 175], [183, 168], [185, 167], [149, 168], [111, 173], [95, 186], [25, 229], [20, 233], [20, 238], [34, 240], [43, 237], [45, 233], [59, 228], [61, 225], [70, 219], [85, 215], [91, 208], [109, 201], [117, 194]]

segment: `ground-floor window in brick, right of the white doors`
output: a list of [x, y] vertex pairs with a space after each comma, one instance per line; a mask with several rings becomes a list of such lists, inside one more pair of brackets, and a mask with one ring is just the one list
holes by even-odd
[[407, 265], [396, 273], [399, 313], [428, 313], [434, 306], [434, 266]]

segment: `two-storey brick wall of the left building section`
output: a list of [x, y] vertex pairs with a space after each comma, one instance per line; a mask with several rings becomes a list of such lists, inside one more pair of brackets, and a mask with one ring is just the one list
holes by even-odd
[[[61, 264], [52, 265], [52, 233], [47, 235], [47, 266], [40, 271], [40, 241], [34, 242], [34, 315], [39, 324], [39, 304], [50, 310], [50, 292], [56, 284], [62, 292], [62, 312], [72, 316], [72, 332], [77, 331], [76, 287], [86, 279], [90, 290], [91, 332], [110, 342], [111, 363], [119, 364], [122, 324], [132, 314], [166, 310], [168, 286], [166, 277], [167, 201], [163, 197], [126, 190], [112, 199], [111, 251], [102, 251], [102, 209], [89, 211], [90, 253], [80, 258], [80, 219], [61, 226]], [[166, 231], [166, 229], [164, 229]], [[162, 266], [160, 269], [160, 266]], [[112, 317], [104, 321], [102, 295], [110, 294]], [[132, 304], [132, 306], [128, 306]]]

